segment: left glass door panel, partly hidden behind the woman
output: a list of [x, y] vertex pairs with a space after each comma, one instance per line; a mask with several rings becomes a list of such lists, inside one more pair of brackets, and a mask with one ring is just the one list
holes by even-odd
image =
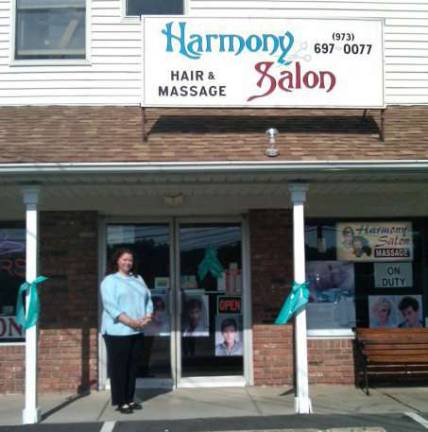
[[170, 224], [107, 225], [107, 262], [118, 248], [131, 249], [136, 272], [152, 294], [153, 321], [144, 331], [144, 345], [138, 378], [171, 381], [171, 332], [174, 308], [171, 279]]

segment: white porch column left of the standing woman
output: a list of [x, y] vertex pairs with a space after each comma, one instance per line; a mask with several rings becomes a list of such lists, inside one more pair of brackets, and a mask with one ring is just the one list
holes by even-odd
[[[26, 280], [32, 282], [37, 276], [38, 260], [38, 209], [39, 188], [24, 187], [22, 190], [26, 220]], [[26, 297], [28, 311], [29, 296]], [[37, 325], [25, 332], [25, 407], [23, 424], [37, 423], [40, 410], [37, 407]]]

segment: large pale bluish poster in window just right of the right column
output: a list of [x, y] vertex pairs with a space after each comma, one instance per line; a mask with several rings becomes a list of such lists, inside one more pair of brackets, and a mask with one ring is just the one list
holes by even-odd
[[308, 328], [338, 329], [355, 326], [354, 265], [343, 261], [309, 261]]

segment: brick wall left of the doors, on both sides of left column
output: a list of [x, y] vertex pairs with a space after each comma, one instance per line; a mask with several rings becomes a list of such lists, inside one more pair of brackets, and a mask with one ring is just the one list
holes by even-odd
[[[40, 391], [83, 391], [97, 380], [97, 215], [40, 213]], [[0, 347], [0, 393], [24, 391], [24, 346]]]

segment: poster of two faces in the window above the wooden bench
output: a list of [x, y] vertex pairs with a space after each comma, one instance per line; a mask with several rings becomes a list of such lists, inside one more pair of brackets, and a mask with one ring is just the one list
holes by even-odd
[[370, 328], [424, 327], [421, 295], [369, 296]]

